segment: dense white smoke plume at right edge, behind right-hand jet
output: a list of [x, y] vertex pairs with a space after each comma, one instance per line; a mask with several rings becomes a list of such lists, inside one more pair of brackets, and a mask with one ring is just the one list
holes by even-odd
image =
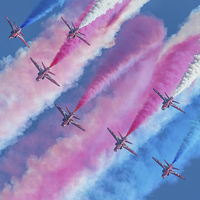
[[188, 67], [188, 70], [185, 72], [182, 80], [176, 87], [176, 90], [173, 96], [177, 96], [184, 89], [188, 88], [192, 82], [200, 76], [200, 54], [194, 55], [194, 61]]

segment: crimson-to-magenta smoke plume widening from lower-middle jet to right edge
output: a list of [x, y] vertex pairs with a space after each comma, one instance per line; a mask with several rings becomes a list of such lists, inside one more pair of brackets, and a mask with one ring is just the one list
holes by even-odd
[[147, 100], [138, 112], [126, 136], [135, 131], [153, 112], [156, 112], [162, 99], [153, 91], [171, 94], [180, 82], [188, 64], [193, 61], [194, 54], [199, 53], [200, 35], [187, 38], [184, 42], [170, 48], [156, 65], [152, 82], [146, 90]]

